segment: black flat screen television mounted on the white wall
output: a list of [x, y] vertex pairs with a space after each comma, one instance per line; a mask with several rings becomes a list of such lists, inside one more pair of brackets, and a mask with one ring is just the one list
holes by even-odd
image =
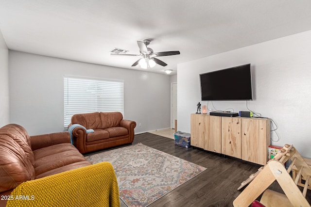
[[200, 74], [202, 101], [253, 100], [251, 64]]

